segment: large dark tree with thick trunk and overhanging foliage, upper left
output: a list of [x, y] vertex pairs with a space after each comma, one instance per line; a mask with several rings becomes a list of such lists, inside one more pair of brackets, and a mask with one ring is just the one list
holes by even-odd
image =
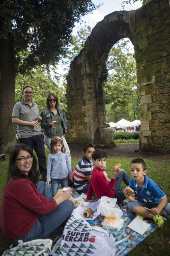
[[91, 0], [0, 1], [0, 130], [5, 150], [15, 142], [14, 128], [9, 134], [6, 127], [11, 126], [16, 72], [55, 64], [66, 53], [74, 23], [95, 8]]

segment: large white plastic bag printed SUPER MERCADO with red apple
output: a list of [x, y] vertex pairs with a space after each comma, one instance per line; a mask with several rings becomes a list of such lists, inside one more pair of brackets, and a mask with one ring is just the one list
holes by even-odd
[[64, 227], [63, 236], [56, 242], [50, 256], [114, 256], [115, 245], [112, 234], [107, 230], [93, 230], [90, 224], [73, 211]]

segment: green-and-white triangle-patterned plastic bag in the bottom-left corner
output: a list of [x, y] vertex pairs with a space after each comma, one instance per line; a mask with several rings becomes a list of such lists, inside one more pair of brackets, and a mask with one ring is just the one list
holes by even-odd
[[3, 252], [2, 256], [48, 256], [51, 251], [51, 239], [36, 239], [28, 242], [19, 241], [19, 244]]

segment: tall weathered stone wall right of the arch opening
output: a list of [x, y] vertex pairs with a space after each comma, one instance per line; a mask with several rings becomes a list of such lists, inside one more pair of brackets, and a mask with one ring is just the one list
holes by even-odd
[[170, 152], [170, 5], [151, 1], [134, 31], [142, 151]]

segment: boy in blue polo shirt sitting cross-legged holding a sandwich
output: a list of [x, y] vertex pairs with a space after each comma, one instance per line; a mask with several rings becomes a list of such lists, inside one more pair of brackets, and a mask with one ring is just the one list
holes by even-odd
[[[159, 214], [170, 214], [170, 203], [167, 203], [165, 193], [153, 180], [147, 177], [146, 163], [143, 159], [133, 159], [130, 168], [133, 179], [130, 180], [129, 187], [135, 191], [135, 195], [124, 192], [129, 200], [128, 209], [135, 212], [141, 219], [153, 219], [161, 228], [164, 220]], [[135, 200], [135, 196], [137, 196], [137, 200]]]

